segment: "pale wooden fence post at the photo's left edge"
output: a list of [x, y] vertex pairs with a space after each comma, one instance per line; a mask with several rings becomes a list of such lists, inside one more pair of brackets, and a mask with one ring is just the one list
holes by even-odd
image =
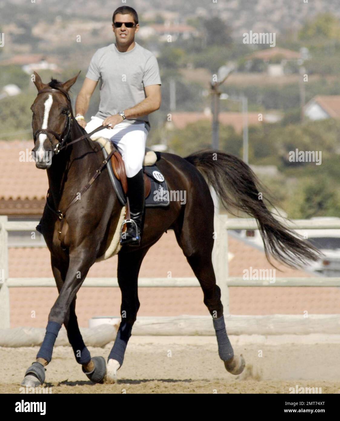
[[8, 233], [7, 216], [0, 216], [0, 327], [10, 327], [10, 306], [8, 280]]

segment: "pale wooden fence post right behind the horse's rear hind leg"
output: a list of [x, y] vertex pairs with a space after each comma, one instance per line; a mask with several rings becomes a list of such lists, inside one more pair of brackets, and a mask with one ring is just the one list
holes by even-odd
[[213, 248], [213, 266], [215, 270], [216, 283], [221, 290], [221, 301], [223, 304], [223, 313], [230, 314], [229, 309], [229, 290], [228, 290], [228, 231], [226, 222], [228, 216], [215, 214], [214, 232], [215, 241]]

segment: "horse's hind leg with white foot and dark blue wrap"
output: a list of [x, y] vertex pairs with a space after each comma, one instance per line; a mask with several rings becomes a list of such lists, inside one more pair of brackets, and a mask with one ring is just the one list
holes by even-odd
[[117, 370], [122, 366], [124, 360], [125, 349], [139, 309], [138, 273], [148, 250], [149, 247], [138, 248], [130, 253], [125, 253], [122, 250], [118, 254], [117, 276], [118, 285], [122, 292], [122, 305], [120, 307], [122, 320], [108, 357], [105, 379], [107, 383], [115, 383], [117, 381]]

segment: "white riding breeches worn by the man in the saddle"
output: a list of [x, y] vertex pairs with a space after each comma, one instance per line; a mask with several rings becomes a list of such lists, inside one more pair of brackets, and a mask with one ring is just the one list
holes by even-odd
[[[90, 133], [103, 123], [103, 119], [93, 116], [85, 127]], [[122, 122], [113, 129], [103, 129], [91, 136], [92, 140], [104, 137], [112, 141], [122, 154], [127, 177], [135, 176], [143, 167], [145, 144], [148, 131], [144, 123], [131, 124]]]

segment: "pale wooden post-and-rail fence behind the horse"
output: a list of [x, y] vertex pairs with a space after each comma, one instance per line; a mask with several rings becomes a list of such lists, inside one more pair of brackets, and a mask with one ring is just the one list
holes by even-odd
[[[0, 216], [0, 328], [10, 327], [9, 288], [21, 287], [55, 287], [53, 278], [11, 278], [8, 274], [8, 232], [35, 232], [37, 221], [9, 222], [7, 216]], [[287, 225], [293, 229], [340, 229], [340, 220], [295, 220]], [[228, 277], [228, 229], [257, 229], [252, 218], [228, 218], [218, 214], [214, 218], [213, 265], [216, 281], [221, 289], [221, 300], [226, 316], [229, 312], [229, 287], [339, 287], [340, 278], [276, 278], [269, 280], [244, 280], [242, 277]], [[19, 264], [20, 262], [18, 262]], [[140, 287], [193, 287], [199, 286], [196, 278], [139, 278]], [[117, 278], [87, 278], [84, 287], [118, 287]], [[271, 316], [263, 316], [270, 319]], [[175, 318], [174, 318], [175, 320]], [[180, 333], [178, 333], [180, 334]]]

